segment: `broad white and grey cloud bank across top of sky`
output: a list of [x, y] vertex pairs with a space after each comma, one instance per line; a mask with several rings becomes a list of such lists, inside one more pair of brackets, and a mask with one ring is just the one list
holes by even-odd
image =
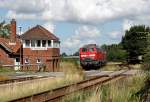
[[2, 0], [0, 8], [9, 10], [9, 18], [97, 24], [141, 15], [148, 19], [149, 5], [150, 0]]

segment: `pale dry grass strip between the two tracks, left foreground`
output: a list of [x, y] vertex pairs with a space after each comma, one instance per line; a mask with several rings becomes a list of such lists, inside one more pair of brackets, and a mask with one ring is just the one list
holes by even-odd
[[52, 90], [60, 86], [81, 81], [84, 78], [82, 70], [78, 68], [73, 61], [62, 61], [61, 70], [65, 73], [65, 76], [61, 78], [33, 80], [31, 82], [14, 83], [12, 85], [0, 87], [0, 102]]

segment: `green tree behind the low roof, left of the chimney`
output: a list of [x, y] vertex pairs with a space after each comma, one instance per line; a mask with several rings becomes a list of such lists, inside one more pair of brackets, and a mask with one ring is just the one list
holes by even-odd
[[0, 36], [8, 38], [10, 34], [10, 24], [6, 24], [5, 21], [0, 23]]

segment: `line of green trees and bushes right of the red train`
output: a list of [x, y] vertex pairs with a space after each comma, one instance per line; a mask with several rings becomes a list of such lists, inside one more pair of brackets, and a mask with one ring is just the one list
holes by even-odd
[[144, 55], [147, 53], [149, 32], [149, 27], [135, 25], [125, 31], [119, 44], [102, 45], [102, 49], [107, 52], [107, 60], [133, 64], [143, 62]]

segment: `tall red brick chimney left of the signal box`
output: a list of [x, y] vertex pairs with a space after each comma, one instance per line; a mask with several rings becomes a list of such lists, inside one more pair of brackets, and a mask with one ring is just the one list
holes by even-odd
[[11, 20], [11, 26], [10, 26], [10, 40], [12, 43], [16, 41], [16, 20]]

